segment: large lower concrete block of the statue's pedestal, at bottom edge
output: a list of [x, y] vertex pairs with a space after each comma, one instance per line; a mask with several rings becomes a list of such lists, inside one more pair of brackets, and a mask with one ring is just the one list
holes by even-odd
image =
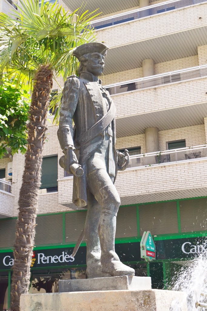
[[23, 294], [20, 311], [187, 311], [187, 297], [169, 290], [102, 290]]

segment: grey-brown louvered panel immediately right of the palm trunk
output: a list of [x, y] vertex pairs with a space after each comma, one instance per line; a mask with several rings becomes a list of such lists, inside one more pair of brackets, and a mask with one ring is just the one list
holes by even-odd
[[36, 218], [35, 245], [63, 243], [63, 215], [38, 216]]

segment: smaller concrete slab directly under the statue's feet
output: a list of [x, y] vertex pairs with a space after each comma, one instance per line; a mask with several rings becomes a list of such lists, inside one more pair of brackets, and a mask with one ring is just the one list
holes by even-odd
[[142, 276], [124, 275], [58, 282], [59, 293], [91, 290], [149, 290], [151, 288], [151, 277]]

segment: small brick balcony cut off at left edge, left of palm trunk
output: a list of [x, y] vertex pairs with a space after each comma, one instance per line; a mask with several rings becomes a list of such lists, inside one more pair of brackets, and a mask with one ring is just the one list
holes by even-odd
[[13, 217], [14, 195], [11, 183], [0, 179], [0, 218]]

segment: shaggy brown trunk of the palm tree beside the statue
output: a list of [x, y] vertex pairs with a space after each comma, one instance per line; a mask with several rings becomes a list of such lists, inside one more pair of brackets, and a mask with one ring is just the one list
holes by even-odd
[[19, 197], [19, 215], [16, 222], [14, 266], [11, 284], [11, 310], [19, 311], [20, 295], [28, 292], [30, 264], [40, 187], [42, 152], [47, 130], [47, 109], [52, 88], [52, 70], [41, 66], [34, 78], [32, 102], [29, 110], [28, 149]]

